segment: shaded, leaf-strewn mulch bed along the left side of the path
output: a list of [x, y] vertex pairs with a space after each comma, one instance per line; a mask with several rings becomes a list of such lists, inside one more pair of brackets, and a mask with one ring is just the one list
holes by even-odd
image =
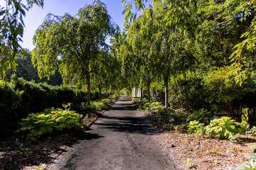
[[15, 142], [17, 137], [0, 141], [0, 169], [23, 169], [25, 166], [50, 164], [58, 154], [67, 152], [69, 147], [81, 140], [93, 140], [102, 136], [72, 128], [65, 132], [55, 132], [48, 139], [32, 145]]

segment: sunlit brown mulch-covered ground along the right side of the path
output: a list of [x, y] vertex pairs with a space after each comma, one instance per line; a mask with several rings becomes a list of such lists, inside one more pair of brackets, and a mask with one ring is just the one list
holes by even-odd
[[156, 128], [159, 145], [187, 169], [230, 169], [245, 162], [245, 154], [252, 154], [256, 148], [254, 136], [237, 135], [240, 142], [231, 142], [220, 140], [218, 136], [191, 134], [182, 125], [176, 125], [176, 130], [169, 130], [154, 115], [146, 114], [145, 111], [142, 113], [147, 122]]

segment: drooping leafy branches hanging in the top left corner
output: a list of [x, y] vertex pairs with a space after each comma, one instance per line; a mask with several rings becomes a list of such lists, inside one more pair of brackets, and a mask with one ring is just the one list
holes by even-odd
[[23, 17], [33, 4], [43, 6], [43, 0], [5, 0], [6, 6], [0, 6], [0, 79], [6, 77], [8, 69], [16, 70], [15, 57], [21, 46], [18, 42], [23, 37]]

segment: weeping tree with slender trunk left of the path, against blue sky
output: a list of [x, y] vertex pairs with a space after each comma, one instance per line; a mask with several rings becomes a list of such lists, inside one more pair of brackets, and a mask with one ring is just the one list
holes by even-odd
[[90, 105], [91, 74], [102, 57], [100, 50], [108, 48], [107, 35], [117, 31], [101, 2], [81, 8], [74, 17], [68, 13], [62, 17], [48, 14], [33, 38], [33, 64], [40, 77], [49, 77], [60, 61], [58, 70], [65, 84], [82, 86], [86, 82]]

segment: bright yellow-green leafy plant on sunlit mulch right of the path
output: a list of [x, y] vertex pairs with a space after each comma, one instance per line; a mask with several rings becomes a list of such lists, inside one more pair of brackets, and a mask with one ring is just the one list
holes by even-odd
[[213, 119], [210, 125], [206, 126], [207, 135], [220, 135], [220, 139], [230, 139], [238, 132], [242, 132], [241, 128], [237, 128], [241, 124], [231, 118], [223, 116], [220, 119]]

